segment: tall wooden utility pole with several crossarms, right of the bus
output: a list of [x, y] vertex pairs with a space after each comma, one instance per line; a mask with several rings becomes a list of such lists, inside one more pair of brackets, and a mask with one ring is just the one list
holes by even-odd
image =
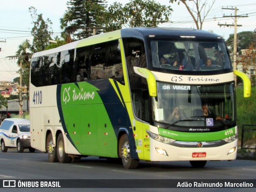
[[[237, 31], [237, 27], [239, 26], [242, 26], [242, 25], [238, 25], [237, 24], [237, 18], [238, 17], [248, 17], [248, 16], [241, 16], [241, 15], [237, 15], [237, 9], [236, 7], [235, 8], [222, 8], [222, 9], [228, 9], [228, 10], [235, 10], [235, 15], [232, 16], [226, 16], [224, 15], [223, 17], [234, 17], [234, 24], [218, 24], [220, 27], [221, 26], [234, 26], [234, 50], [233, 50], [233, 70], [236, 70], [236, 52], [237, 52], [237, 34], [236, 34], [236, 31]], [[236, 75], [234, 75], [234, 79], [235, 79], [235, 85], [236, 85]]]

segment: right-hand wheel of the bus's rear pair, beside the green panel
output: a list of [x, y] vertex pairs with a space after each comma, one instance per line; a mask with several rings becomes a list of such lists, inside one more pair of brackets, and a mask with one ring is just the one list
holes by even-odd
[[72, 158], [65, 153], [64, 138], [62, 134], [59, 134], [57, 140], [57, 155], [60, 163], [69, 163]]

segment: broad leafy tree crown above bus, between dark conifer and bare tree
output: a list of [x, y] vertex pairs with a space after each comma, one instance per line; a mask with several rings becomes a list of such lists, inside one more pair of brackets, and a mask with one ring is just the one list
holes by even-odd
[[171, 6], [161, 5], [154, 0], [130, 0], [127, 4], [114, 2], [108, 8], [108, 31], [128, 27], [156, 27], [169, 20]]

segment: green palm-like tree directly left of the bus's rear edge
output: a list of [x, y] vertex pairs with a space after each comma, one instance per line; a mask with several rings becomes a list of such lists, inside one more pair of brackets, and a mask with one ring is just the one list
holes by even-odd
[[[27, 87], [29, 87], [29, 73], [30, 73], [30, 58], [31, 53], [29, 52], [31, 45], [28, 40], [25, 40], [18, 46], [18, 51], [16, 55], [18, 56], [17, 64], [20, 67], [22, 64], [22, 68], [18, 70], [19, 74], [22, 75], [22, 82]], [[20, 82], [19, 82], [20, 83]]]

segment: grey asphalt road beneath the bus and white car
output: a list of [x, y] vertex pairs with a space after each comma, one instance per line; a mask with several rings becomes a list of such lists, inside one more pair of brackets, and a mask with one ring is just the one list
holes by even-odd
[[[256, 179], [256, 162], [250, 160], [233, 161], [208, 161], [204, 168], [192, 168], [189, 162], [146, 162], [140, 161], [138, 169], [126, 170], [122, 164], [110, 162], [98, 157], [82, 158], [78, 163], [51, 163], [48, 162], [47, 154], [36, 151], [30, 153], [17, 153], [16, 150], [0, 152], [0, 179], [4, 180], [32, 180], [32, 179], [153, 179], [158, 181], [165, 180], [184, 180], [196, 179], [198, 182], [204, 179], [230, 180], [230, 179]], [[152, 180], [152, 181], [153, 181]], [[49, 191], [47, 188], [41, 189], [0, 189], [0, 191]], [[77, 188], [75, 190], [62, 188], [50, 189], [50, 191], [254, 191], [255, 189], [220, 189], [220, 188], [183, 188], [160, 189], [160, 188]]]

